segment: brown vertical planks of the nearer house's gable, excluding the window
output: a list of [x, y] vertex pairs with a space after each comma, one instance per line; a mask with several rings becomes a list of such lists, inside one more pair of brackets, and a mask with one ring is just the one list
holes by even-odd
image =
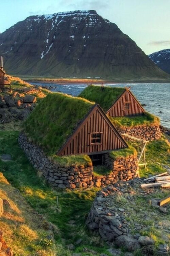
[[[102, 143], [100, 145], [91, 144], [91, 133], [95, 132], [102, 132]], [[96, 110], [59, 155], [88, 154], [120, 148], [125, 148], [125, 145], [102, 114]]]

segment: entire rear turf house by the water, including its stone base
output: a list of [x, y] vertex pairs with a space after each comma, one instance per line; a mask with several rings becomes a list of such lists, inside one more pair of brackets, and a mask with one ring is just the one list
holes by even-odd
[[90, 85], [79, 97], [98, 103], [121, 134], [143, 140], [157, 140], [161, 136], [159, 118], [142, 108], [130, 87]]

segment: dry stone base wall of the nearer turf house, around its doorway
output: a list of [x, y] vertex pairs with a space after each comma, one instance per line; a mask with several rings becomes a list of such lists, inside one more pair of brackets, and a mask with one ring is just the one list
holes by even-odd
[[20, 134], [18, 142], [34, 168], [39, 170], [53, 187], [61, 189], [104, 187], [115, 184], [118, 180], [131, 180], [138, 176], [137, 158], [134, 156], [113, 160], [109, 154], [104, 154], [103, 164], [111, 169], [111, 172], [107, 175], [95, 176], [93, 166], [66, 167], [54, 162], [23, 133]]

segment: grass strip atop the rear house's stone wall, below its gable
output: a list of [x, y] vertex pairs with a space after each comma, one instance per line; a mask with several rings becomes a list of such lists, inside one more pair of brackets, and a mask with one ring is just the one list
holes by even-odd
[[109, 117], [116, 127], [133, 127], [138, 125], [159, 124], [159, 117], [145, 112], [142, 116]]

